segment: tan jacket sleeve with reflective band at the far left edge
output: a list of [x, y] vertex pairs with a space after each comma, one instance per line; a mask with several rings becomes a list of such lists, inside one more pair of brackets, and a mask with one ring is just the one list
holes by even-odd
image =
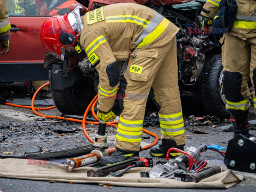
[[8, 40], [11, 24], [6, 9], [5, 0], [0, 0], [0, 40]]

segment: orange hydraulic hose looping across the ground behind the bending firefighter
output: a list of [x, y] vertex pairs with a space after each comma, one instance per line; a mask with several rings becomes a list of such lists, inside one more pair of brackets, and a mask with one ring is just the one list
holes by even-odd
[[[65, 118], [65, 117], [61, 117], [61, 116], [50, 116], [50, 115], [43, 115], [41, 113], [38, 113], [38, 111], [36, 110], [49, 110], [49, 109], [53, 109], [55, 108], [56, 106], [52, 106], [52, 107], [45, 107], [45, 108], [39, 108], [39, 107], [34, 107], [34, 102], [35, 102], [35, 98], [36, 98], [36, 95], [37, 93], [43, 89], [43, 87], [49, 85], [50, 83], [46, 83], [44, 85], [42, 85], [41, 87], [39, 87], [39, 89], [36, 90], [36, 92], [34, 93], [33, 95], [33, 98], [32, 98], [32, 101], [31, 101], [31, 107], [30, 106], [22, 106], [22, 105], [15, 105], [15, 104], [12, 104], [12, 103], [5, 103], [5, 105], [9, 105], [9, 106], [13, 106], [13, 107], [20, 107], [20, 108], [26, 108], [26, 109], [32, 109], [34, 111], [34, 113], [38, 116], [41, 116], [41, 117], [46, 117], [46, 118], [52, 118], [52, 119], [61, 119], [61, 120], [65, 120], [65, 121], [73, 121], [73, 122], [77, 122], [77, 123], [82, 123], [82, 128], [83, 128], [83, 133], [85, 135], [85, 137], [91, 142], [91, 143], [94, 143], [94, 141], [89, 137], [89, 135], [87, 134], [87, 131], [86, 131], [86, 126], [85, 124], [94, 124], [94, 125], [98, 125], [99, 122], [89, 122], [89, 121], [86, 121], [86, 117], [90, 111], [90, 109], [92, 109], [92, 115], [95, 117], [95, 119], [97, 119], [97, 121], [99, 121], [99, 118], [97, 117], [97, 115], [95, 114], [95, 111], [94, 111], [94, 107], [98, 101], [98, 94], [95, 95], [95, 97], [93, 98], [93, 100], [90, 102], [89, 106], [86, 108], [85, 110], [85, 113], [84, 113], [84, 116], [83, 116], [83, 120], [79, 120], [79, 119], [74, 119], [74, 118]], [[109, 126], [117, 126], [117, 124], [115, 123], [118, 123], [118, 121], [114, 121], [114, 122], [107, 122], [106, 124], [109, 125]], [[153, 143], [150, 143], [149, 145], [145, 146], [145, 147], [142, 147], [142, 150], [146, 150], [146, 149], [149, 149], [150, 147], [153, 147], [154, 145], [156, 145], [156, 143], [158, 142], [158, 136], [155, 134], [155, 133], [152, 133], [146, 129], [142, 129], [142, 131], [150, 134], [151, 136], [155, 137], [155, 140]], [[113, 147], [114, 149], [115, 147]], [[112, 148], [111, 148], [112, 149]]]

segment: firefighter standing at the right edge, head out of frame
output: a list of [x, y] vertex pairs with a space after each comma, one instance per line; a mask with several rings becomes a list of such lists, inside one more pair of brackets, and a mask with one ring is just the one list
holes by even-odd
[[[256, 2], [236, 0], [237, 14], [228, 34], [224, 34], [222, 45], [223, 91], [226, 108], [237, 134], [249, 134], [248, 112], [250, 107], [249, 77], [256, 84]], [[219, 10], [220, 0], [207, 0], [201, 12], [202, 26], [211, 23]], [[256, 108], [253, 94], [254, 110]]]

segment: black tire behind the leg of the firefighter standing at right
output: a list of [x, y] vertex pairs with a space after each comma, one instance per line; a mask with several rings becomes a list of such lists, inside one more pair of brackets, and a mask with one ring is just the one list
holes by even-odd
[[225, 108], [226, 100], [222, 90], [222, 72], [220, 54], [211, 55], [207, 58], [200, 77], [200, 94], [207, 114], [229, 118], [230, 115]]

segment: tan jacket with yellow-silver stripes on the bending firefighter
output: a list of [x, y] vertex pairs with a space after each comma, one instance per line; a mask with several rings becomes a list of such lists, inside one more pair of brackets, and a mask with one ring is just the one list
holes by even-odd
[[[98, 109], [105, 113], [115, 102], [119, 82], [117, 61], [127, 60], [129, 54], [134, 57], [137, 49], [167, 44], [179, 30], [156, 11], [133, 3], [100, 7], [87, 12], [81, 19], [83, 30], [80, 44], [99, 72]], [[155, 53], [149, 54], [154, 56]], [[141, 74], [142, 69], [134, 66], [130, 70], [134, 74]], [[143, 81], [146, 77], [140, 78]]]

